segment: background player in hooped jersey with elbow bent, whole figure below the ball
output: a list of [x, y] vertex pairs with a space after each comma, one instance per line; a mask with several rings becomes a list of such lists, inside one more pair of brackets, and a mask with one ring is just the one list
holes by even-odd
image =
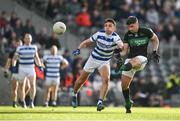
[[[43, 57], [45, 64], [45, 96], [44, 106], [49, 106], [51, 99], [52, 106], [56, 106], [57, 92], [60, 84], [60, 68], [64, 69], [68, 66], [68, 61], [58, 55], [57, 46], [51, 47], [51, 54]], [[50, 98], [51, 97], [51, 98]]]

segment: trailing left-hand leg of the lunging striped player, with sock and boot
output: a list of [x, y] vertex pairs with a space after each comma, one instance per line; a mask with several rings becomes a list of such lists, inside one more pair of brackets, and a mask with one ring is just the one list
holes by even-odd
[[72, 106], [74, 108], [77, 107], [78, 102], [77, 102], [77, 93], [79, 91], [79, 89], [83, 86], [84, 82], [87, 80], [87, 78], [89, 77], [89, 72], [86, 71], [82, 71], [80, 77], [76, 80], [75, 85], [74, 85], [74, 94], [72, 97]]

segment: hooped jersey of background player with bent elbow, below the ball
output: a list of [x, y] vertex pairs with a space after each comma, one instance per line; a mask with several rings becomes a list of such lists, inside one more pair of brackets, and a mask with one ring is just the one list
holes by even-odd
[[46, 77], [60, 78], [60, 64], [65, 59], [60, 55], [46, 55], [43, 57], [43, 61], [46, 67]]

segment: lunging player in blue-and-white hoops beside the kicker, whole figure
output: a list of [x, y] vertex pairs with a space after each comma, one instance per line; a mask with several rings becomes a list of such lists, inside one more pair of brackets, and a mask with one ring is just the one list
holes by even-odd
[[116, 48], [123, 48], [123, 42], [116, 31], [116, 22], [108, 18], [104, 22], [104, 29], [97, 31], [90, 38], [80, 43], [78, 49], [73, 51], [74, 55], [79, 55], [82, 48], [88, 47], [92, 43], [96, 46], [92, 50], [89, 59], [87, 60], [80, 77], [76, 80], [74, 85], [74, 92], [72, 97], [72, 106], [75, 108], [78, 105], [77, 93], [87, 80], [89, 75], [98, 69], [102, 77], [102, 87], [100, 89], [99, 99], [97, 101], [97, 111], [104, 109], [104, 98], [108, 91], [110, 80], [110, 60]]

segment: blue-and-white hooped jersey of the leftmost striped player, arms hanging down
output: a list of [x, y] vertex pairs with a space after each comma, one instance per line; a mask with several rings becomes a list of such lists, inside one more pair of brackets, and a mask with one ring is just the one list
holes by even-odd
[[34, 57], [37, 53], [37, 47], [35, 45], [22, 45], [16, 49], [16, 54], [19, 59], [19, 66], [34, 68]]

